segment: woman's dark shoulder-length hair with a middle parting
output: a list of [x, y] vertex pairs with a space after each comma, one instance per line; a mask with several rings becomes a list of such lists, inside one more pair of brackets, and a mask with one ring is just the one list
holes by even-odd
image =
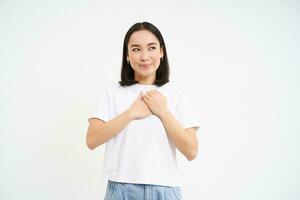
[[154, 84], [157, 86], [162, 86], [169, 82], [170, 69], [169, 69], [169, 61], [167, 56], [167, 49], [164, 42], [164, 39], [158, 30], [153, 24], [149, 22], [141, 22], [136, 23], [127, 31], [124, 43], [123, 43], [123, 58], [122, 58], [122, 69], [121, 69], [121, 81], [119, 81], [121, 86], [130, 86], [138, 83], [138, 81], [134, 80], [134, 70], [131, 68], [130, 64], [127, 63], [127, 54], [128, 54], [128, 42], [130, 36], [140, 30], [150, 31], [155, 35], [160, 43], [160, 47], [163, 48], [164, 57], [163, 60], [160, 61], [160, 65], [156, 70], [156, 79]]

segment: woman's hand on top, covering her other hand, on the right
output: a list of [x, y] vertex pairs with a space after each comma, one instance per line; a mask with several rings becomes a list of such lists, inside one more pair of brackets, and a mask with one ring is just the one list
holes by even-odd
[[161, 117], [168, 110], [167, 98], [157, 90], [150, 90], [143, 95], [143, 100], [157, 117]]

